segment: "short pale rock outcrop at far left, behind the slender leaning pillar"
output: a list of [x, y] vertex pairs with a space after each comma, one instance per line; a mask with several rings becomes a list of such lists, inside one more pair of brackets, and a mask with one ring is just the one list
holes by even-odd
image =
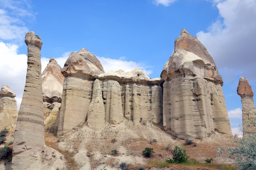
[[16, 94], [7, 85], [3, 85], [0, 91], [0, 130], [11, 124], [16, 124], [18, 109]]

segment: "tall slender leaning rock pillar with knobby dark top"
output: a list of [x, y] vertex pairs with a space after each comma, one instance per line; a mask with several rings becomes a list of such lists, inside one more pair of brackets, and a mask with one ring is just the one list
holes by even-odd
[[27, 75], [13, 141], [12, 170], [38, 169], [38, 152], [44, 146], [42, 41], [34, 32], [26, 34]]

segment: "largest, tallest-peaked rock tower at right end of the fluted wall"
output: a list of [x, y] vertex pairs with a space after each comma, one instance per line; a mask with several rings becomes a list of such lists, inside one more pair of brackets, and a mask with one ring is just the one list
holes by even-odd
[[207, 139], [215, 131], [231, 136], [222, 77], [206, 48], [185, 29], [161, 77], [167, 132], [196, 139]]

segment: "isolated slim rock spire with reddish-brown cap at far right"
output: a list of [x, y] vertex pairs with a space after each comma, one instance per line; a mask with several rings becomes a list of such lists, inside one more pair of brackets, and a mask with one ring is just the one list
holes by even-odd
[[243, 132], [255, 132], [255, 129], [247, 127], [247, 123], [255, 117], [256, 110], [253, 100], [253, 91], [245, 77], [239, 79], [237, 94], [241, 97], [243, 114]]

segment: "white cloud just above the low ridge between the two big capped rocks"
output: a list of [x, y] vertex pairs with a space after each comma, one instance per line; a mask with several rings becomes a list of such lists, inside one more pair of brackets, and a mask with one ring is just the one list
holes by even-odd
[[117, 71], [119, 69], [122, 69], [124, 72], [127, 72], [127, 71], [132, 71], [135, 68], [140, 68], [147, 75], [150, 75], [153, 72], [152, 70], [148, 69], [150, 66], [146, 66], [146, 64], [144, 63], [125, 61], [125, 60], [122, 60], [123, 57], [121, 57], [119, 60], [105, 58], [105, 57], [97, 57], [97, 58], [101, 62], [101, 65], [103, 66], [103, 69], [105, 72]]

